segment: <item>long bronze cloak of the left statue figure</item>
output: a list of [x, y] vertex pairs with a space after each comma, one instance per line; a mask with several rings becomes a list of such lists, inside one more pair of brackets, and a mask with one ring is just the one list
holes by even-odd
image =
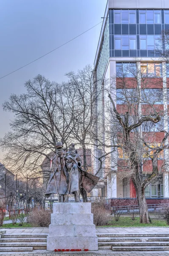
[[68, 192], [68, 177], [69, 174], [68, 168], [65, 163], [65, 156], [63, 155], [63, 157], [60, 157], [59, 154], [56, 153], [52, 161], [52, 172], [51, 177], [48, 180], [48, 186], [45, 192], [45, 196], [48, 198], [53, 193], [65, 195]]

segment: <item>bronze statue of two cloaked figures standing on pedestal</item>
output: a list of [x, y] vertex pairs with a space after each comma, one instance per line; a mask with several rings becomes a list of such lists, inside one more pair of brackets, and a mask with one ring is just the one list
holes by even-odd
[[83, 202], [87, 202], [85, 195], [92, 191], [98, 181], [99, 177], [82, 169], [82, 158], [73, 143], [67, 153], [61, 142], [56, 143], [56, 155], [52, 160], [51, 177], [45, 192], [47, 198], [54, 193], [58, 195], [59, 202], [68, 202], [69, 195], [74, 194], [75, 202], [79, 202], [81, 193]]

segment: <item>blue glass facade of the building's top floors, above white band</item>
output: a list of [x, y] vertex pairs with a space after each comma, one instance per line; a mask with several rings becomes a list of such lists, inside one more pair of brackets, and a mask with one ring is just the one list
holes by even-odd
[[110, 10], [110, 57], [159, 57], [164, 29], [168, 10]]

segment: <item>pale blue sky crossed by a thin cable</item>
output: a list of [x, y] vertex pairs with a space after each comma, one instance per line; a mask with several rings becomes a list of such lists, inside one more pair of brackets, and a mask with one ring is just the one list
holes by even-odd
[[[0, 77], [64, 44], [104, 16], [107, 0], [0, 0]], [[12, 115], [2, 104], [37, 74], [58, 82], [65, 73], [93, 65], [101, 24], [0, 80], [0, 137], [9, 131]], [[0, 151], [0, 159], [3, 153]]]

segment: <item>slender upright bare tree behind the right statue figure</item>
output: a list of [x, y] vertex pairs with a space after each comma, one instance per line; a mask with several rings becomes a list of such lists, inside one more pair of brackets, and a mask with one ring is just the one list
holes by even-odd
[[[96, 90], [97, 81], [93, 79], [92, 67], [87, 65], [83, 70], [77, 73], [70, 72], [68, 77], [68, 87], [75, 94], [73, 102], [68, 98], [71, 119], [71, 138], [82, 147], [83, 150], [83, 168], [87, 170], [87, 151], [86, 147], [93, 146], [93, 137], [91, 136], [95, 125], [94, 108], [99, 95]], [[87, 192], [81, 189], [83, 201], [87, 201]]]

